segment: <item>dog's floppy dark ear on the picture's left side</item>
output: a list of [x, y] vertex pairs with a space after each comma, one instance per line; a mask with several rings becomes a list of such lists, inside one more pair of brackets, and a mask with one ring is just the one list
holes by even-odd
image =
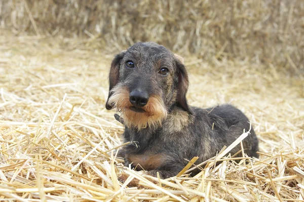
[[112, 88], [114, 88], [118, 84], [119, 79], [119, 67], [121, 60], [123, 59], [124, 55], [126, 54], [126, 51], [121, 52], [120, 54], [117, 54], [115, 58], [112, 60], [110, 73], [109, 73], [109, 95], [107, 98], [107, 101], [105, 103], [106, 109], [112, 109], [113, 107], [108, 103], [109, 98], [112, 95]]

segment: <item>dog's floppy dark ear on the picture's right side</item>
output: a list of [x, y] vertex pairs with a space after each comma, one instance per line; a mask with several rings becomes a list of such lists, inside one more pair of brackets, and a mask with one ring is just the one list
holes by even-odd
[[176, 54], [174, 54], [174, 56], [176, 58], [175, 64], [178, 70], [177, 102], [185, 111], [192, 114], [186, 99], [186, 94], [189, 87], [188, 73], [186, 67], [183, 65], [183, 58]]

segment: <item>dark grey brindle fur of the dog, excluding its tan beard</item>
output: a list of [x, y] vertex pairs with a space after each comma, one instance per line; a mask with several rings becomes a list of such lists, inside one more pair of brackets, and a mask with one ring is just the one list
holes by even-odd
[[[134, 62], [134, 68], [125, 66], [129, 60]], [[163, 67], [169, 69], [168, 75], [159, 74], [160, 68]], [[208, 109], [189, 107], [185, 97], [188, 76], [184, 65], [169, 50], [155, 43], [137, 43], [118, 54], [112, 62], [109, 78], [110, 90], [121, 83], [128, 87], [130, 92], [140, 89], [148, 95], [160, 96], [165, 103], [168, 116], [163, 120], [162, 126], [140, 130], [126, 127], [123, 134], [126, 142], [136, 142], [123, 148], [121, 154], [125, 157], [126, 166], [132, 164], [129, 156], [161, 154], [165, 163], [149, 170], [149, 175], [156, 176], [159, 172], [162, 178], [175, 176], [188, 163], [185, 159], [199, 156], [196, 162], [199, 164], [216, 155], [223, 146], [233, 143], [244, 129], [249, 130], [248, 118], [232, 105]], [[112, 107], [107, 103], [106, 108]], [[182, 121], [175, 123], [175, 126], [181, 129], [171, 130], [176, 127], [172, 127], [170, 114], [176, 111], [186, 112], [182, 113], [186, 114], [186, 122], [183, 122], [183, 125]], [[123, 123], [119, 116], [116, 118]], [[258, 157], [258, 140], [253, 129], [243, 140], [243, 146], [248, 156]], [[240, 149], [240, 145], [236, 146], [231, 154]]]

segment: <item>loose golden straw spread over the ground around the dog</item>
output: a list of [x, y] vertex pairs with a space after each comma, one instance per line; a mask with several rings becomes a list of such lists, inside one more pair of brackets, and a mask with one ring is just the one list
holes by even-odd
[[[161, 180], [124, 168], [112, 153], [123, 132], [104, 108], [112, 55], [77, 49], [79, 40], [0, 32], [2, 200], [303, 201], [302, 78], [244, 61], [210, 66], [185, 58], [189, 103], [242, 109], [260, 140], [260, 159], [245, 165], [219, 153], [221, 164], [200, 165], [196, 177]], [[121, 184], [123, 172], [145, 189]]]

